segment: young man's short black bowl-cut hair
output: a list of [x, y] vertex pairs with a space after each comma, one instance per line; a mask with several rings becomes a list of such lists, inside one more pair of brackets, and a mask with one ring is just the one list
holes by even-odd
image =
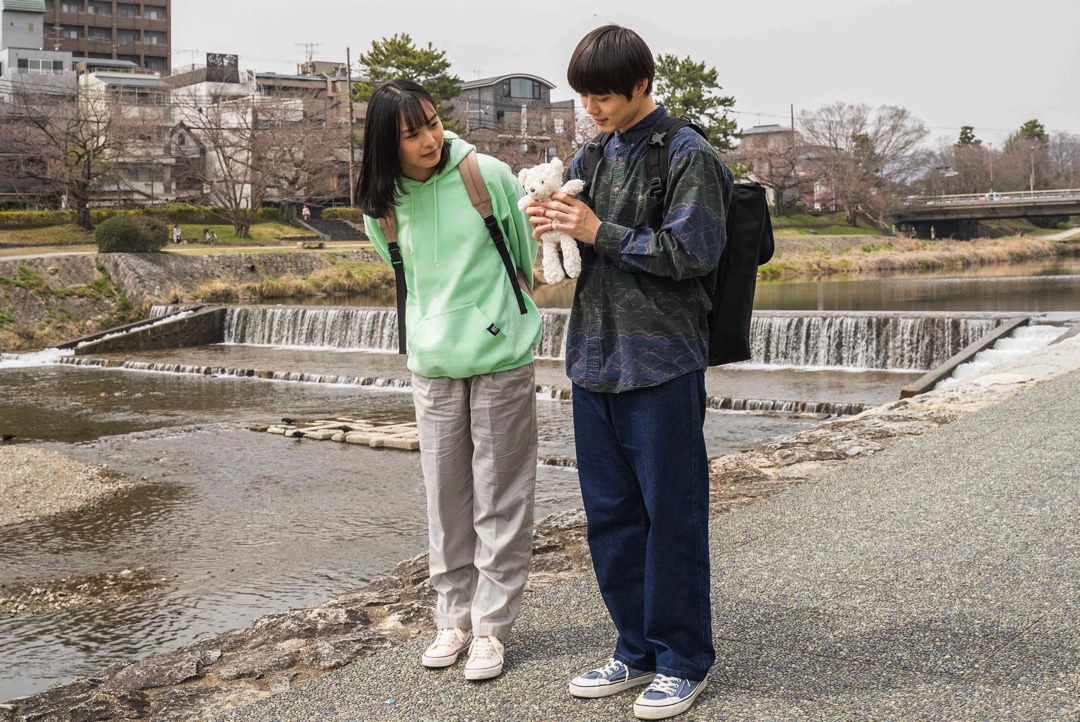
[[656, 74], [652, 51], [639, 35], [621, 25], [604, 25], [582, 38], [566, 69], [566, 80], [576, 93], [618, 93], [627, 100], [643, 80], [648, 81], [645, 94], [651, 95]]

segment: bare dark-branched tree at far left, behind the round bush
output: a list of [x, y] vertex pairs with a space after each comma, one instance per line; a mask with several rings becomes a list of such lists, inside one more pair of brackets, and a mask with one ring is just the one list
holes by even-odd
[[4, 173], [63, 196], [76, 209], [79, 226], [91, 230], [91, 200], [119, 181], [117, 159], [144, 124], [140, 108], [107, 91], [19, 84], [3, 115]]

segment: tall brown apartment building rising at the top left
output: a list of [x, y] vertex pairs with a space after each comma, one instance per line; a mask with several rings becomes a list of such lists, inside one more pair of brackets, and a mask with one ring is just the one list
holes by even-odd
[[45, 49], [172, 70], [172, 0], [44, 0]]

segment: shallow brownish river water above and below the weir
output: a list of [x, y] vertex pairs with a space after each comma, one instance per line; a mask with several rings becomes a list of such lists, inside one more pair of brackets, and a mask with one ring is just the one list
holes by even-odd
[[[563, 288], [541, 291], [546, 308], [567, 302]], [[1055, 313], [1080, 311], [1078, 299], [1080, 263], [1047, 263], [761, 284], [756, 306]], [[241, 344], [140, 358], [401, 376], [396, 356], [355, 350]], [[707, 386], [717, 397], [874, 405], [896, 398], [920, 373], [751, 364], [711, 369]], [[538, 379], [559, 374], [558, 362], [538, 363]], [[168, 581], [156, 594], [119, 604], [0, 619], [0, 700], [245, 627], [261, 614], [318, 604], [426, 547], [416, 453], [248, 428], [282, 418], [411, 420], [407, 390], [10, 360], [0, 363], [0, 431], [15, 433], [16, 442], [143, 480], [92, 509], [0, 530], [0, 582], [139, 567]], [[572, 459], [569, 404], [540, 397], [538, 413], [541, 455]], [[710, 454], [754, 448], [816, 423], [800, 414], [714, 411], [706, 420]], [[542, 465], [538, 474], [538, 516], [580, 505], [572, 468]]]

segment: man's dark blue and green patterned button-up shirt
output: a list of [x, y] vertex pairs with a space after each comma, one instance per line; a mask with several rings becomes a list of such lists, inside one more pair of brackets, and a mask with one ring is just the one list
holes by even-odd
[[[582, 244], [581, 275], [567, 326], [566, 371], [593, 392], [654, 386], [708, 366], [706, 287], [727, 241], [731, 172], [692, 128], [674, 136], [659, 232], [633, 228], [648, 194], [647, 145], [663, 107], [604, 148], [591, 197], [602, 224]], [[585, 148], [570, 175], [581, 178]], [[585, 179], [588, 182], [589, 179]]]

